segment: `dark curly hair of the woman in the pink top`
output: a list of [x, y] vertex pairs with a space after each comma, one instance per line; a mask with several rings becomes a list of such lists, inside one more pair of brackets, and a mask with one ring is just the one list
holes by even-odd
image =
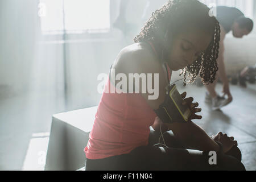
[[[218, 71], [217, 58], [220, 42], [220, 25], [214, 16], [209, 15], [210, 9], [197, 0], [170, 0], [160, 9], [152, 13], [144, 24], [134, 42], [154, 40], [159, 44], [159, 52], [167, 55], [168, 44], [172, 38], [188, 27], [199, 28], [209, 32], [212, 40], [208, 48], [192, 63], [187, 65], [181, 74], [184, 74], [184, 86], [192, 84], [199, 75], [205, 85], [213, 83]], [[171, 33], [170, 33], [171, 32]]]

